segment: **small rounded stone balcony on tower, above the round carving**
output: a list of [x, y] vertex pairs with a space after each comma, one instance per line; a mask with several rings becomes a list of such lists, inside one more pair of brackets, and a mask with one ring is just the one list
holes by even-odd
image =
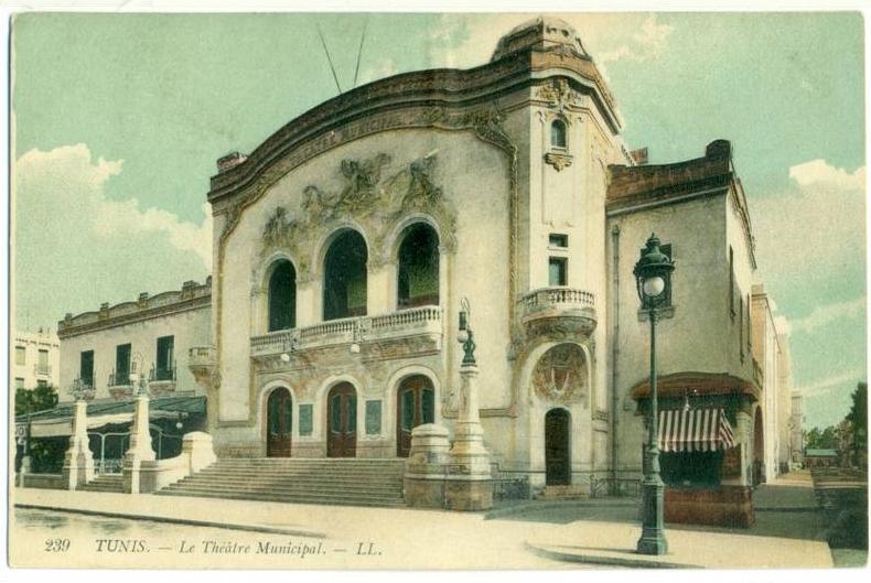
[[556, 339], [587, 337], [596, 325], [595, 295], [573, 288], [540, 288], [520, 301], [526, 333]]

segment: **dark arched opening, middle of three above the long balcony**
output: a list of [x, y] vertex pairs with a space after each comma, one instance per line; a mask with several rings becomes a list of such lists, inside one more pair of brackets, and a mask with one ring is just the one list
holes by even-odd
[[366, 241], [344, 230], [324, 257], [324, 320], [366, 315]]

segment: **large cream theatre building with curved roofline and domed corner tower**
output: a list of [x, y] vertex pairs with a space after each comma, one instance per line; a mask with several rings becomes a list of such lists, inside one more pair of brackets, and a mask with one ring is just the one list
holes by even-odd
[[631, 493], [649, 370], [633, 267], [655, 231], [677, 266], [670, 496], [750, 520], [755, 251], [731, 144], [653, 165], [621, 131], [576, 32], [539, 18], [490, 63], [354, 88], [219, 159], [211, 332], [187, 363], [218, 464], [401, 462], [413, 428], [453, 434], [465, 299], [494, 473], [527, 496]]

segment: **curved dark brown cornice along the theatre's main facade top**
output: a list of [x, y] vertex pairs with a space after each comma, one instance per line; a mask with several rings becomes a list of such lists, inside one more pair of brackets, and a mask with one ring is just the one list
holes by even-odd
[[[591, 60], [527, 51], [472, 69], [428, 69], [396, 75], [324, 101], [283, 126], [243, 162], [212, 176], [208, 201], [215, 203], [246, 192], [262, 180], [272, 165], [290, 154], [295, 159], [291, 166], [295, 166], [365, 134], [433, 126], [408, 123], [408, 116], [379, 123], [376, 118], [383, 120], [385, 114], [421, 108], [460, 111], [481, 107], [560, 75], [569, 79], [573, 89], [592, 95], [612, 131], [620, 131], [613, 97]], [[370, 127], [361, 130], [365, 120], [372, 121]], [[357, 130], [350, 130], [352, 126]], [[288, 164], [284, 164], [287, 170]]]

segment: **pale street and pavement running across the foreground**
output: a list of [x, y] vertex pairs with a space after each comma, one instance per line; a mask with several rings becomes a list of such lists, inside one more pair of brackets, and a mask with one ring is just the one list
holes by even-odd
[[[103, 566], [282, 569], [577, 569], [832, 566], [825, 525], [808, 475], [791, 475], [757, 490], [756, 526], [723, 529], [666, 525], [669, 553], [634, 552], [641, 535], [637, 501], [628, 498], [530, 501], [491, 512], [315, 506], [193, 497], [15, 489], [15, 505], [157, 520], [147, 543], [162, 553], [101, 554]], [[14, 512], [13, 512], [14, 520]], [[173, 529], [176, 525], [176, 530]], [[191, 528], [196, 527], [196, 528]], [[204, 537], [249, 546], [248, 552], [205, 552]], [[183, 530], [185, 529], [185, 530]], [[198, 529], [198, 530], [197, 530]], [[11, 525], [13, 564], [68, 566], [69, 554], [36, 553], [44, 532]], [[129, 535], [125, 535], [126, 537]], [[72, 535], [85, 552], [94, 535]], [[288, 553], [257, 551], [288, 546]], [[184, 544], [196, 549], [182, 555]], [[304, 559], [292, 544], [318, 548]], [[318, 547], [320, 544], [320, 547]], [[181, 548], [180, 548], [181, 547]], [[190, 549], [189, 549], [190, 550]], [[90, 553], [93, 557], [93, 552]], [[22, 558], [17, 561], [15, 557]], [[155, 561], [158, 563], [155, 564]]]

